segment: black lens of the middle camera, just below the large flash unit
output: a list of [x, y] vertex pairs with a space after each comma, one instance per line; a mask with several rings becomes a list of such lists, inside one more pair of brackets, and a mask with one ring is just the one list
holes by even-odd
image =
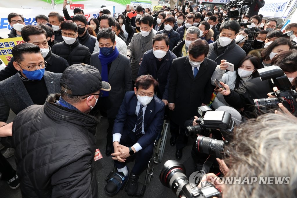
[[224, 154], [224, 141], [212, 139], [205, 136], [198, 136], [196, 139], [196, 148], [198, 152], [214, 155], [222, 159]]

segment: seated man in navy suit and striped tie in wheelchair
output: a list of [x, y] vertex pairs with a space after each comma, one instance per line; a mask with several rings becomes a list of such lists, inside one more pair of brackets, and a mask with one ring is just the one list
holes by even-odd
[[118, 172], [108, 181], [105, 192], [115, 195], [125, 185], [129, 173], [125, 160], [137, 153], [126, 190], [137, 192], [138, 177], [152, 156], [154, 140], [162, 131], [165, 104], [154, 95], [158, 82], [151, 76], [140, 76], [134, 91], [127, 92], [113, 126], [113, 159]]

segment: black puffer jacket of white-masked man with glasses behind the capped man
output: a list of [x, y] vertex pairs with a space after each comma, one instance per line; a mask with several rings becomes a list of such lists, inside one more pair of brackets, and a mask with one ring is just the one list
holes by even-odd
[[[75, 52], [71, 54], [73, 50]], [[72, 45], [68, 45], [65, 42], [55, 44], [53, 45], [52, 52], [66, 59], [69, 66], [80, 63], [90, 64], [91, 52], [89, 48], [78, 43], [78, 39]], [[70, 54], [71, 56], [69, 56]]]

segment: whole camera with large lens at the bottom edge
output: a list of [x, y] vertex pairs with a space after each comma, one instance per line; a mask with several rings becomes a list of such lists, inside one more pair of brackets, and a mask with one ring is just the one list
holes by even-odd
[[171, 188], [176, 194], [176, 197], [222, 197], [221, 191], [209, 182], [205, 182], [205, 185], [202, 188], [197, 187], [198, 183], [196, 186], [190, 184], [184, 170], [185, 168], [183, 164], [175, 160], [168, 160], [165, 162], [160, 173], [161, 183], [164, 186]]

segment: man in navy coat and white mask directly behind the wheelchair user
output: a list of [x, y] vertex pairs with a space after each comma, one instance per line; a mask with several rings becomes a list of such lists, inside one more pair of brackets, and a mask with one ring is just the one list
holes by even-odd
[[170, 41], [165, 34], [156, 34], [152, 41], [153, 49], [143, 54], [138, 76], [152, 75], [159, 83], [157, 96], [167, 105], [169, 71], [176, 55], [169, 50]]

